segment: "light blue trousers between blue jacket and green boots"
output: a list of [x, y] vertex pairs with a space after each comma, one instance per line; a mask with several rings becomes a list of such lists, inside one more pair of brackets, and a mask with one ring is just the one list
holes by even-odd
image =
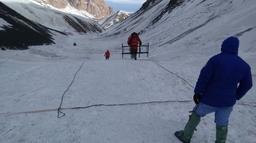
[[199, 106], [197, 105], [193, 108], [196, 113], [200, 117], [204, 117], [206, 114], [215, 112], [215, 120], [214, 123], [217, 125], [226, 126], [228, 125], [229, 116], [231, 111], [233, 110], [233, 106], [231, 107], [213, 107], [203, 103], [200, 103]]

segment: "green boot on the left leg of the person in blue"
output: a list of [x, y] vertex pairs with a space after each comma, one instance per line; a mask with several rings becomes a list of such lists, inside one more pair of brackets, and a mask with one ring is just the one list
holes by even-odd
[[184, 143], [190, 143], [191, 138], [193, 137], [194, 130], [197, 130], [196, 127], [200, 122], [201, 117], [197, 115], [195, 111], [189, 115], [189, 120], [182, 131], [176, 131], [175, 136]]

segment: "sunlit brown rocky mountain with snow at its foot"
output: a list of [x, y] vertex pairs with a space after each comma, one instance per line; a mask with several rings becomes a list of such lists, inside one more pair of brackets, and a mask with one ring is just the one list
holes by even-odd
[[36, 4], [53, 8], [65, 13], [91, 19], [101, 19], [115, 13], [104, 0], [30, 0]]

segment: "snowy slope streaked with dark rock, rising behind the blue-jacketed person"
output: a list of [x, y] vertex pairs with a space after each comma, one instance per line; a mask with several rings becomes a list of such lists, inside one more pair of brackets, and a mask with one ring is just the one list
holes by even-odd
[[[188, 55], [207, 51], [204, 56], [210, 57], [220, 52], [225, 38], [236, 36], [241, 39], [240, 55], [250, 55], [256, 51], [255, 8], [253, 0], [148, 0], [138, 12], [101, 35], [125, 43], [132, 32], [138, 32], [142, 42], [150, 43], [152, 55], [160, 59], [179, 56], [170, 56], [173, 51]], [[245, 58], [252, 61], [254, 57]]]

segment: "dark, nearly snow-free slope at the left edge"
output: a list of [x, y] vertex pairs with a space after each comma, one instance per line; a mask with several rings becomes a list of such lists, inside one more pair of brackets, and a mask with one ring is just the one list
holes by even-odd
[[51, 34], [45, 26], [30, 21], [0, 2], [0, 47], [2, 50], [24, 50], [28, 49], [28, 46], [51, 44], [54, 43]]

